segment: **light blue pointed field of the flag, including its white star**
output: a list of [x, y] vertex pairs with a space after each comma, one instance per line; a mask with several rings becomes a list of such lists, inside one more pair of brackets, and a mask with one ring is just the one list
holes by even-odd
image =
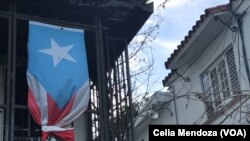
[[29, 23], [28, 72], [63, 108], [89, 80], [83, 30]]

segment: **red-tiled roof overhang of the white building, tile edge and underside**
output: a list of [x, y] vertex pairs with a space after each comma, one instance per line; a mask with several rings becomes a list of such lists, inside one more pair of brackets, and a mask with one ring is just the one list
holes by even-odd
[[[173, 70], [181, 68], [184, 64], [186, 66], [191, 65], [192, 60], [195, 59], [194, 55], [199, 54], [199, 52], [208, 47], [214, 38], [220, 34], [225, 24], [218, 19], [224, 22], [231, 20], [230, 4], [231, 2], [226, 5], [206, 9], [205, 14], [200, 16], [200, 20], [196, 22], [192, 30], [188, 32], [185, 39], [165, 62], [166, 69], [171, 69], [172, 72], [163, 80], [164, 86], [168, 86], [178, 77]], [[178, 70], [178, 73], [181, 74], [181, 70]]]

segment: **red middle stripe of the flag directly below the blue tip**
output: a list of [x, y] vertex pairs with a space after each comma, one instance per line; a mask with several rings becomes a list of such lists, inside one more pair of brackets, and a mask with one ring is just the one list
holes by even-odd
[[70, 111], [74, 104], [75, 95], [73, 95], [67, 105], [60, 109], [53, 98], [47, 94], [48, 99], [48, 125], [54, 125], [62, 120]]

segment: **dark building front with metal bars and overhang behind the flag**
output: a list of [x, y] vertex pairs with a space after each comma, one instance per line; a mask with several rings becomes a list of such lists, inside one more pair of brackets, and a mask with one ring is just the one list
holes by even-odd
[[40, 136], [27, 108], [29, 21], [85, 31], [91, 98], [88, 110], [71, 125], [76, 140], [133, 139], [127, 45], [152, 12], [145, 0], [1, 1], [0, 140]]

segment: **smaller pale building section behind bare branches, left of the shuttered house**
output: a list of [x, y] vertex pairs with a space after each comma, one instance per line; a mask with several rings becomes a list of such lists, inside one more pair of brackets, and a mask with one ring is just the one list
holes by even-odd
[[167, 92], [156, 92], [143, 105], [135, 117], [135, 140], [149, 140], [149, 125], [162, 125], [169, 122], [166, 118], [174, 116], [174, 107], [169, 101], [173, 97]]

